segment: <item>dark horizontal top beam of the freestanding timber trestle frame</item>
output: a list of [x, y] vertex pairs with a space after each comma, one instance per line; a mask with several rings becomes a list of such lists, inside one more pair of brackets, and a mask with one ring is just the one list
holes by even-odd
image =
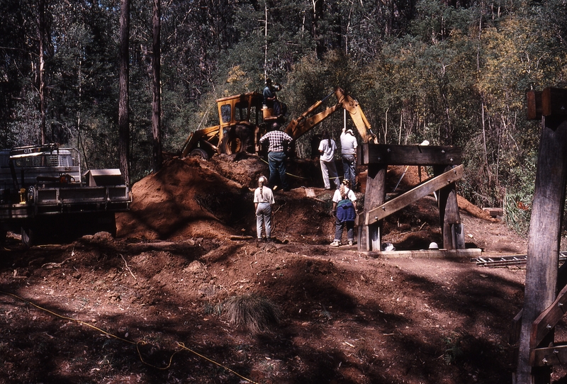
[[459, 165], [463, 160], [460, 147], [369, 143], [359, 147], [359, 165]]

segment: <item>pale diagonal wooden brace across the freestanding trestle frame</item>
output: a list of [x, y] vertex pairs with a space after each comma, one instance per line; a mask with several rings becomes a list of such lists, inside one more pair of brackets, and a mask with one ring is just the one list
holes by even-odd
[[[464, 167], [461, 164], [445, 172], [444, 174], [425, 181], [425, 183], [422, 183], [420, 186], [413, 188], [411, 191], [405, 192], [397, 198], [393, 198], [391, 201], [387, 201], [377, 208], [369, 210], [367, 213], [362, 213], [362, 215], [366, 215], [366, 217], [364, 217], [364, 222], [366, 223], [366, 225], [371, 225], [378, 220], [382, 220], [388, 215], [391, 215], [392, 213], [395, 213], [398, 210], [410, 205], [414, 201], [417, 201], [420, 198], [425, 197], [430, 193], [433, 193], [434, 191], [437, 191], [444, 186], [447, 186], [450, 183], [454, 183], [455, 181], [461, 179], [463, 177], [463, 173]], [[366, 201], [364, 205], [366, 205]]]

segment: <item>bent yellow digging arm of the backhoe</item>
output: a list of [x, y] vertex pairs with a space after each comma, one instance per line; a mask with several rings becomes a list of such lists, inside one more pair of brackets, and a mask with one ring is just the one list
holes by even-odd
[[337, 104], [335, 106], [329, 107], [325, 109], [325, 111], [321, 111], [315, 115], [310, 115], [317, 109], [326, 98], [331, 96], [329, 94], [327, 97], [323, 98], [322, 100], [318, 101], [317, 103], [310, 106], [307, 111], [303, 112], [298, 118], [291, 120], [291, 122], [286, 127], [285, 132], [290, 135], [293, 140], [297, 140], [301, 137], [305, 132], [308, 132], [311, 128], [315, 125], [318, 125], [325, 120], [327, 117], [332, 115], [339, 107], [344, 108], [350, 114], [354, 125], [357, 127], [359, 134], [362, 138], [362, 142], [374, 142], [378, 143], [378, 139], [376, 135], [371, 132], [371, 126], [368, 120], [366, 120], [366, 116], [362, 109], [359, 106], [358, 101], [354, 100], [351, 96], [344, 93], [344, 91], [337, 86], [335, 91], [333, 92], [335, 96], [337, 96]]

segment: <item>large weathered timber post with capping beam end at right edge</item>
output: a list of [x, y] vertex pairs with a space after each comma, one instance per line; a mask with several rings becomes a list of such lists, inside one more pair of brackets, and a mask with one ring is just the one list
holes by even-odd
[[[554, 346], [567, 290], [558, 287], [561, 221], [567, 184], [567, 91], [527, 94], [528, 118], [541, 118], [532, 218], [529, 222], [524, 307], [515, 384], [549, 383], [564, 348]], [[554, 300], [556, 303], [554, 303]]]

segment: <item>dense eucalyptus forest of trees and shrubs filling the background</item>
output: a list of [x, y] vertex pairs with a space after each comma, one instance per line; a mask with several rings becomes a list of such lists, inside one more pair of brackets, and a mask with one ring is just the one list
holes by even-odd
[[[341, 86], [381, 142], [461, 146], [460, 193], [505, 206], [525, 230], [529, 210], [517, 207], [531, 202], [540, 128], [526, 120], [525, 92], [563, 84], [565, 0], [0, 0], [1, 147], [58, 142], [86, 166], [118, 166], [124, 4], [132, 181], [155, 164], [156, 63], [173, 153], [215, 124], [216, 98], [261, 91], [271, 77], [291, 116]], [[341, 119], [310, 135], [336, 137]]]

